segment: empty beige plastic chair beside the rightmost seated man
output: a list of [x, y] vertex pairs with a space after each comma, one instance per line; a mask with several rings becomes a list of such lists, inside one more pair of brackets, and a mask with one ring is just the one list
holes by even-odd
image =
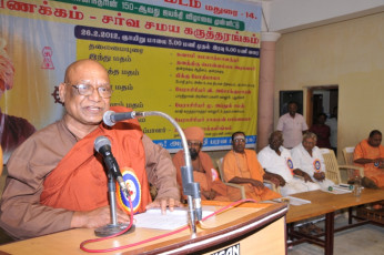
[[353, 172], [357, 171], [361, 177], [364, 176], [364, 169], [361, 166], [338, 165], [335, 153], [332, 150], [321, 149], [321, 153], [324, 157], [324, 163], [325, 163], [325, 177], [331, 180], [335, 184], [342, 183], [342, 178], [340, 174], [341, 170], [346, 170], [347, 174], [350, 170], [353, 170]]

